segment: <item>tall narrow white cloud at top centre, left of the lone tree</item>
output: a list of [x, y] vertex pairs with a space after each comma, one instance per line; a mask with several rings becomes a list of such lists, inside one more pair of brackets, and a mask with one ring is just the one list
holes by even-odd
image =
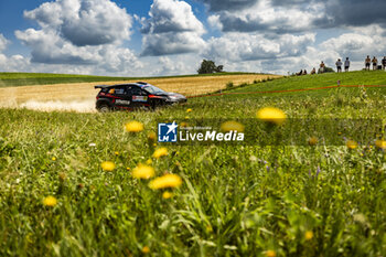
[[179, 0], [154, 0], [142, 28], [142, 55], [160, 56], [199, 52], [205, 42], [204, 25], [192, 7]]

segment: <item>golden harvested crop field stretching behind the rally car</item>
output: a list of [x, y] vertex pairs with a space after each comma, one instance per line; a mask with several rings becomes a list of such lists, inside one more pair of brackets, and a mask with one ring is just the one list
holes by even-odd
[[[223, 74], [216, 76], [180, 76], [163, 78], [108, 78], [93, 76], [49, 75], [36, 78], [35, 74], [13, 76], [0, 74], [0, 107], [26, 107], [41, 110], [81, 110], [95, 111], [95, 96], [98, 90], [95, 85], [114, 85], [137, 81], [146, 81], [164, 90], [180, 93], [186, 96], [201, 95], [226, 88], [226, 84], [250, 84], [262, 79], [277, 78], [277, 75], [261, 74]], [[44, 78], [44, 79], [43, 79]], [[108, 78], [108, 79], [107, 79]], [[26, 81], [25, 81], [26, 79]], [[32, 81], [28, 81], [32, 79]], [[79, 82], [74, 82], [79, 79]], [[88, 79], [92, 82], [83, 82]], [[106, 81], [104, 81], [106, 79]], [[121, 81], [117, 81], [121, 79]], [[58, 83], [60, 82], [60, 83]], [[82, 83], [83, 82], [83, 83]], [[1, 87], [3, 83], [3, 87]], [[46, 83], [45, 85], [30, 85], [30, 83]], [[58, 83], [58, 84], [57, 84]], [[15, 86], [18, 85], [18, 86]], [[23, 85], [23, 86], [20, 86]]]

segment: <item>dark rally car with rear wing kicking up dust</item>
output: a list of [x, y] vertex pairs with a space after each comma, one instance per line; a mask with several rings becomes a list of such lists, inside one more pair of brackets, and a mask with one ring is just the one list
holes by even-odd
[[158, 106], [185, 103], [186, 97], [175, 93], [164, 92], [144, 82], [98, 85], [100, 89], [96, 97], [97, 110], [105, 113], [116, 109], [157, 108]]

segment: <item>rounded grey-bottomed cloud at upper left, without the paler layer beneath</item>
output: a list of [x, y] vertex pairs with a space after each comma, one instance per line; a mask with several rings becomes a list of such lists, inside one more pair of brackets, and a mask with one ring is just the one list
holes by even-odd
[[53, 29], [74, 45], [100, 45], [128, 40], [132, 19], [109, 0], [56, 0], [45, 2], [24, 17]]

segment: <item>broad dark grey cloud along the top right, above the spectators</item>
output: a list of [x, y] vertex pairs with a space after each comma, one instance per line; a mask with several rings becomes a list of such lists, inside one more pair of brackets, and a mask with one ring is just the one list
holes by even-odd
[[276, 33], [386, 24], [385, 0], [199, 0], [222, 31]]

